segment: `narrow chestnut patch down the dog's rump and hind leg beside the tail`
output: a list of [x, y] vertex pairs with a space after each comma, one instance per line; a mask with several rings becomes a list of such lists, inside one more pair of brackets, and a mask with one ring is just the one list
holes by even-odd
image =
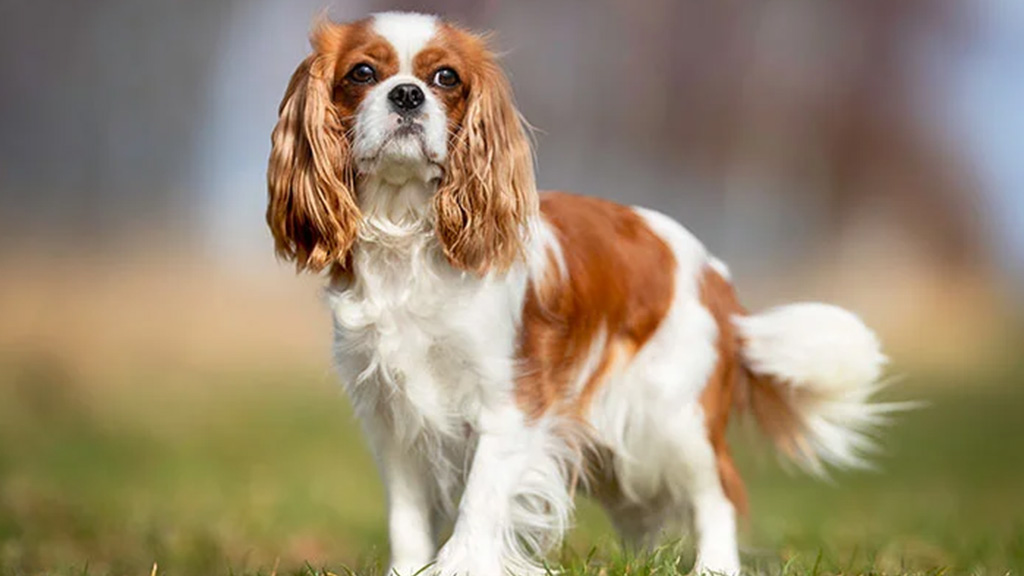
[[711, 266], [706, 266], [699, 279], [700, 302], [711, 312], [718, 324], [718, 363], [712, 372], [700, 404], [705, 412], [708, 438], [718, 460], [718, 475], [726, 497], [741, 516], [746, 516], [749, 504], [743, 480], [732, 460], [725, 434], [729, 414], [736, 401], [737, 382], [742, 377], [739, 365], [739, 340], [732, 318], [744, 314], [736, 292], [728, 280]]

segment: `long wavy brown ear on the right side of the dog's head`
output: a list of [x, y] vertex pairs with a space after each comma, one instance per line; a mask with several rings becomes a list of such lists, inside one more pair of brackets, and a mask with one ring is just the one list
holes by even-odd
[[484, 56], [434, 198], [449, 261], [480, 275], [506, 271], [522, 255], [527, 221], [538, 210], [522, 119], [505, 75], [494, 56]]

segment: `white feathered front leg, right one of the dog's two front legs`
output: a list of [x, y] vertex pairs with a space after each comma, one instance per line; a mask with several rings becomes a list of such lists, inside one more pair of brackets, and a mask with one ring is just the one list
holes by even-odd
[[[513, 499], [544, 458], [544, 431], [514, 408], [485, 411], [455, 530], [437, 554], [442, 576], [505, 576], [535, 571], [515, 535]], [[560, 489], [560, 488], [559, 488]], [[566, 496], [567, 497], [567, 496]]]

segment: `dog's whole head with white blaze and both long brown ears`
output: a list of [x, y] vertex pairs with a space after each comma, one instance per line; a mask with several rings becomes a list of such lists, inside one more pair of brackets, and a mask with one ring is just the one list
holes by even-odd
[[529, 143], [484, 40], [433, 16], [326, 23], [274, 128], [267, 221], [300, 270], [346, 265], [360, 186], [436, 189], [435, 232], [464, 270], [504, 270], [536, 211]]

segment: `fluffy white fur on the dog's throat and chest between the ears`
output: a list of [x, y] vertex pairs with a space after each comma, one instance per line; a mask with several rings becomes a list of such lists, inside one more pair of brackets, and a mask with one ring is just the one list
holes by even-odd
[[328, 291], [335, 361], [357, 415], [406, 446], [466, 437], [483, 403], [510, 394], [525, 285], [518, 272], [453, 269], [428, 192], [377, 184], [366, 195], [352, 280]]

